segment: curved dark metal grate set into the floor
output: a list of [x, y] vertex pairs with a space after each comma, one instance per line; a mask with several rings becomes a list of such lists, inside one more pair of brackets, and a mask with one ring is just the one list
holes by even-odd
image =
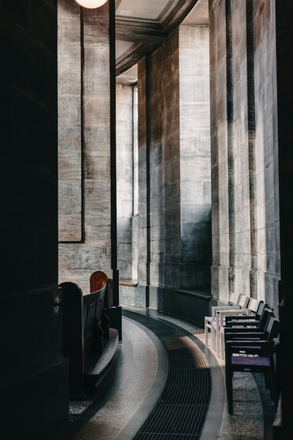
[[134, 440], [196, 440], [199, 438], [211, 392], [208, 363], [188, 332], [157, 319], [123, 311], [160, 339], [169, 358], [165, 389]]

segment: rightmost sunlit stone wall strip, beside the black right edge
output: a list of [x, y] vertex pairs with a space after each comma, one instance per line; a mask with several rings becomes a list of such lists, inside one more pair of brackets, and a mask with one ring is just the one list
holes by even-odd
[[[253, 1], [255, 147], [257, 183], [257, 289], [278, 310], [280, 279], [279, 154], [275, 1]], [[278, 312], [277, 312], [278, 313]]]

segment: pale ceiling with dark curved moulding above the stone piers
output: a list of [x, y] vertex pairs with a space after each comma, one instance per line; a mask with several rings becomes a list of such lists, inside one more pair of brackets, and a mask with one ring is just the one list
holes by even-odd
[[115, 4], [117, 75], [159, 47], [182, 20], [208, 23], [208, 0], [116, 0]]

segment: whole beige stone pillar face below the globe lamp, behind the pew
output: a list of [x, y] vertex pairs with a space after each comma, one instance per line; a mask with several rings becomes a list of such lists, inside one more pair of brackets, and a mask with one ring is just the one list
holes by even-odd
[[58, 25], [59, 282], [89, 293], [112, 279], [109, 2], [59, 0]]

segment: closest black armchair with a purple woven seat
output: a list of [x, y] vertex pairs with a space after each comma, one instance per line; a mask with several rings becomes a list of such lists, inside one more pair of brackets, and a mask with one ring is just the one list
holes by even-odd
[[[278, 336], [279, 321], [272, 316], [269, 317], [264, 332], [226, 333], [226, 388], [229, 414], [233, 414], [232, 378], [234, 371], [267, 374], [271, 400], [274, 401], [275, 408], [277, 408], [278, 391], [275, 374], [274, 339]], [[239, 354], [241, 351], [245, 351], [246, 356], [235, 356], [235, 353]], [[254, 356], [247, 356], [249, 354]]]

